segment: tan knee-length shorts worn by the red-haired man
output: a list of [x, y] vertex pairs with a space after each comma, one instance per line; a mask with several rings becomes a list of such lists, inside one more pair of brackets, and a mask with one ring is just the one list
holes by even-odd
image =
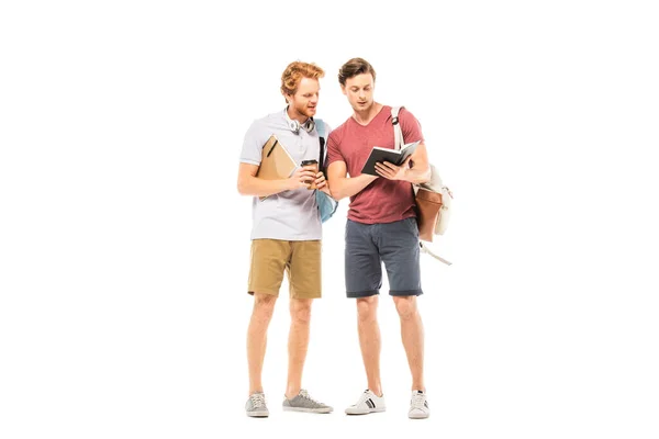
[[254, 239], [249, 294], [279, 295], [283, 272], [292, 299], [321, 297], [321, 241]]

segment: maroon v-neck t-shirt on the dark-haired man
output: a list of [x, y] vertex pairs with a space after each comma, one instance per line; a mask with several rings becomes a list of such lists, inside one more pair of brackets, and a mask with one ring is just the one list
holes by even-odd
[[[416, 140], [424, 142], [421, 125], [412, 113], [401, 109], [399, 123], [406, 144]], [[373, 146], [394, 148], [391, 106], [389, 105], [383, 105], [366, 126], [360, 125], [350, 116], [332, 131], [327, 138], [327, 165], [338, 160], [345, 161], [348, 175], [357, 177], [361, 173], [361, 168]], [[414, 193], [410, 182], [380, 177], [364, 188], [361, 192], [350, 196], [348, 218], [365, 224], [393, 223], [416, 216], [414, 206]]]

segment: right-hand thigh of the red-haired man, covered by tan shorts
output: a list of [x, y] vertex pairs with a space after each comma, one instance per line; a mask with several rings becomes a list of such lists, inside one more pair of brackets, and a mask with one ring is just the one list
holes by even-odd
[[292, 299], [321, 297], [321, 240], [291, 241], [289, 286]]

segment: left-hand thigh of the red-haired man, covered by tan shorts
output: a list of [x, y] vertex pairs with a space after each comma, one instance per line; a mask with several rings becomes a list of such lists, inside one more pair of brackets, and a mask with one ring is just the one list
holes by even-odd
[[283, 271], [290, 258], [290, 246], [286, 240], [254, 239], [247, 292], [278, 296]]

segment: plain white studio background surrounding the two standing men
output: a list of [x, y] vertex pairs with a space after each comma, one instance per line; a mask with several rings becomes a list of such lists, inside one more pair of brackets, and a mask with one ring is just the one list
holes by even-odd
[[[0, 437], [656, 438], [651, 3], [2, 2]], [[271, 416], [248, 419], [243, 136], [282, 108], [295, 59], [325, 69], [319, 116], [340, 124], [355, 56], [379, 102], [418, 117], [455, 194], [435, 246], [455, 263], [422, 261], [432, 417], [406, 418], [386, 294], [389, 409], [343, 414], [366, 386], [343, 201], [303, 383], [335, 413], [281, 412], [282, 294]]]

